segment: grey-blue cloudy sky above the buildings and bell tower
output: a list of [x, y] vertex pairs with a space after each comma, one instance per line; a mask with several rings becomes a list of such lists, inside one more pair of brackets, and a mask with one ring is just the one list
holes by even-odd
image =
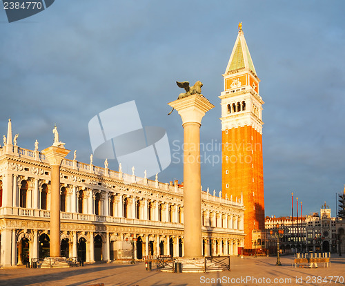
[[[57, 124], [66, 148], [88, 163], [88, 122], [135, 100], [142, 124], [164, 128], [179, 158], [181, 118], [176, 111], [167, 115], [167, 103], [183, 91], [176, 81], [200, 80], [215, 105], [201, 122], [201, 142], [216, 146], [221, 75], [242, 21], [265, 102], [266, 216], [289, 216], [291, 192], [304, 214], [326, 201], [335, 216], [335, 193], [345, 184], [344, 8], [342, 0], [57, 0], [12, 23], [0, 10], [0, 135], [11, 117], [18, 145], [34, 149], [38, 140], [41, 150], [52, 144]], [[159, 181], [183, 181], [177, 161]], [[109, 168], [117, 170], [117, 160]], [[220, 163], [202, 162], [201, 184], [221, 190]]]

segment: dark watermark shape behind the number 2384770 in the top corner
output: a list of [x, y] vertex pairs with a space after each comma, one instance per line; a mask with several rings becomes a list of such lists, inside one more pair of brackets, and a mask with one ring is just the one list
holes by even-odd
[[31, 17], [52, 5], [55, 0], [3, 0], [8, 22]]

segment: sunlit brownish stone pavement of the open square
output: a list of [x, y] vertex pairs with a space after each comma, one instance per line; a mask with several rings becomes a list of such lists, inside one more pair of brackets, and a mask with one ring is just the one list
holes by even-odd
[[[282, 266], [275, 257], [230, 258], [231, 271], [175, 274], [146, 271], [144, 263], [85, 265], [62, 269], [0, 270], [0, 285], [96, 285], [105, 286], [186, 286], [186, 285], [345, 285], [345, 256], [331, 258], [330, 268], [293, 268], [293, 256], [283, 256]], [[256, 280], [255, 280], [256, 279]]]

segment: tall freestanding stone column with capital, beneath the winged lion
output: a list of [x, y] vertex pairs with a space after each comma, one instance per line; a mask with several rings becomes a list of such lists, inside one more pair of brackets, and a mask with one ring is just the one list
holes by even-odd
[[190, 95], [170, 102], [181, 115], [184, 127], [184, 256], [201, 257], [200, 126], [213, 104], [202, 95]]

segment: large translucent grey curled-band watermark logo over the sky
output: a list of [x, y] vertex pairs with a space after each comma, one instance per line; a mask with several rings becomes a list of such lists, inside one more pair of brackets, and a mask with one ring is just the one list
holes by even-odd
[[166, 130], [142, 126], [135, 101], [119, 104], [92, 117], [88, 123], [95, 158], [117, 159], [124, 172], [135, 167], [139, 176], [151, 177], [171, 162]]

